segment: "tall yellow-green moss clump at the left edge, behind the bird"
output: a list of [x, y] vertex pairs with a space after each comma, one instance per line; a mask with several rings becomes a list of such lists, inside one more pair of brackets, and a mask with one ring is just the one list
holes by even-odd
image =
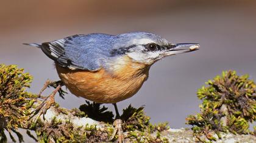
[[[23, 141], [20, 133], [16, 131], [29, 119], [30, 108], [35, 102], [36, 95], [26, 91], [30, 86], [32, 76], [24, 73], [23, 68], [16, 65], [0, 64], [0, 137], [4, 142], [4, 130], [13, 132]], [[10, 134], [13, 142], [16, 142]]]

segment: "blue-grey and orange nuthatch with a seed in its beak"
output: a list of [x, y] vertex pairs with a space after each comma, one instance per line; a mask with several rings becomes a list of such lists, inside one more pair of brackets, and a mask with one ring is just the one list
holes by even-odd
[[166, 56], [193, 52], [196, 43], [174, 44], [154, 33], [91, 33], [30, 43], [55, 62], [59, 78], [78, 97], [115, 105], [135, 95], [151, 65]]

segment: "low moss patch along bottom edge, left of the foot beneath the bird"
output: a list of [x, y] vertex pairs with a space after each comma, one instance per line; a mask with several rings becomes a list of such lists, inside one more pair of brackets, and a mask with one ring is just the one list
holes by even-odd
[[99, 131], [96, 125], [74, 127], [69, 121], [61, 121], [56, 118], [48, 124], [40, 124], [35, 128], [39, 142], [99, 142], [107, 139], [104, 131]]

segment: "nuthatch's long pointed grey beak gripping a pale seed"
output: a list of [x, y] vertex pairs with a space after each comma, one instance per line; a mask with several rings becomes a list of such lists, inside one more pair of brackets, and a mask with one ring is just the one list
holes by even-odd
[[169, 44], [168, 50], [165, 52], [165, 56], [193, 52], [195, 50], [199, 50], [199, 47], [200, 45], [195, 43]]

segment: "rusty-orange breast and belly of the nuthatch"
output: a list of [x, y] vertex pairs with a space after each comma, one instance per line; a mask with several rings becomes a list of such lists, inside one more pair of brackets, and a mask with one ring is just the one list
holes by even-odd
[[[119, 59], [113, 69], [106, 71], [70, 70], [56, 64], [60, 79], [76, 96], [99, 103], [115, 103], [135, 95], [148, 78], [149, 67]], [[121, 64], [120, 64], [121, 63]]]

